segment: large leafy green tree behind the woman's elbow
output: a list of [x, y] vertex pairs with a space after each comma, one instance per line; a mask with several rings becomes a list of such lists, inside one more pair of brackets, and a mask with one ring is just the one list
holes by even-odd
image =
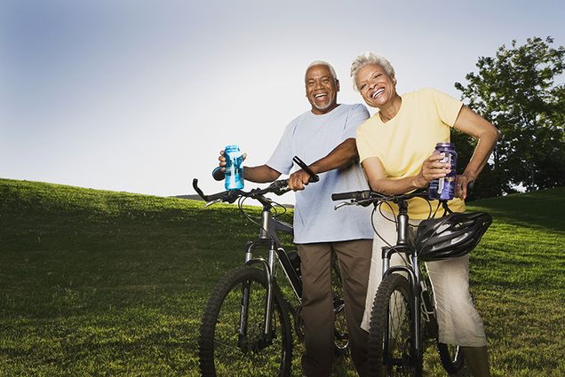
[[[565, 84], [555, 83], [565, 67], [565, 48], [552, 43], [548, 36], [528, 38], [521, 46], [514, 40], [511, 48], [503, 44], [494, 58], [479, 58], [479, 72], [466, 75], [466, 86], [455, 83], [466, 105], [501, 132], [478, 183], [489, 193], [478, 196], [516, 186], [532, 191], [565, 185]], [[472, 143], [464, 135], [454, 137], [461, 146]]]

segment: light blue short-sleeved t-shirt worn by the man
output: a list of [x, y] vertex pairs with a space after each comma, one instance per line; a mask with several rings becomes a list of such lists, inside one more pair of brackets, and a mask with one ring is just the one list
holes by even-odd
[[[339, 105], [328, 114], [316, 115], [310, 111], [301, 114], [286, 127], [267, 165], [283, 174], [289, 174], [293, 168], [293, 156], [310, 165], [347, 138], [354, 138], [355, 130], [367, 118], [369, 112], [361, 104]], [[371, 208], [346, 206], [335, 210], [338, 201], [331, 200], [334, 192], [369, 188], [361, 165], [356, 162], [346, 169], [326, 171], [319, 176], [320, 181], [296, 192], [294, 242], [372, 240]]]

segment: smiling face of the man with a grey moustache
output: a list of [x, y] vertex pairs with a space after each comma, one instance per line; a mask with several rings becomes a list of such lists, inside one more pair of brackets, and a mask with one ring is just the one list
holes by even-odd
[[312, 66], [306, 71], [306, 98], [312, 105], [312, 113], [326, 114], [338, 106], [339, 82], [324, 65]]

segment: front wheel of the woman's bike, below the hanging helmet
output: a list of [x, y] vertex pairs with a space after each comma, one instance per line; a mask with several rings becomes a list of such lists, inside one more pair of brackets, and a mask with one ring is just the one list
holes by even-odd
[[370, 314], [369, 375], [421, 376], [421, 357], [416, 355], [412, 318], [414, 295], [402, 275], [386, 276], [378, 286]]

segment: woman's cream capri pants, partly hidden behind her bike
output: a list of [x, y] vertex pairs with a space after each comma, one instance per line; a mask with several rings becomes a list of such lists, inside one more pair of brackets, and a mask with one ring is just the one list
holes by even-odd
[[[385, 213], [393, 218], [393, 214]], [[418, 225], [421, 220], [410, 224]], [[396, 244], [396, 225], [378, 213], [373, 216], [378, 234], [389, 244]], [[382, 247], [386, 246], [377, 235], [373, 240], [373, 254], [370, 259], [369, 287], [365, 300], [362, 328], [369, 331], [370, 310], [378, 285], [382, 279]], [[403, 264], [398, 254], [391, 257], [390, 265]], [[474, 308], [469, 294], [469, 255], [443, 261], [426, 262], [426, 268], [434, 289], [435, 310], [439, 325], [439, 340], [442, 343], [464, 347], [487, 345], [484, 327], [479, 313]]]

